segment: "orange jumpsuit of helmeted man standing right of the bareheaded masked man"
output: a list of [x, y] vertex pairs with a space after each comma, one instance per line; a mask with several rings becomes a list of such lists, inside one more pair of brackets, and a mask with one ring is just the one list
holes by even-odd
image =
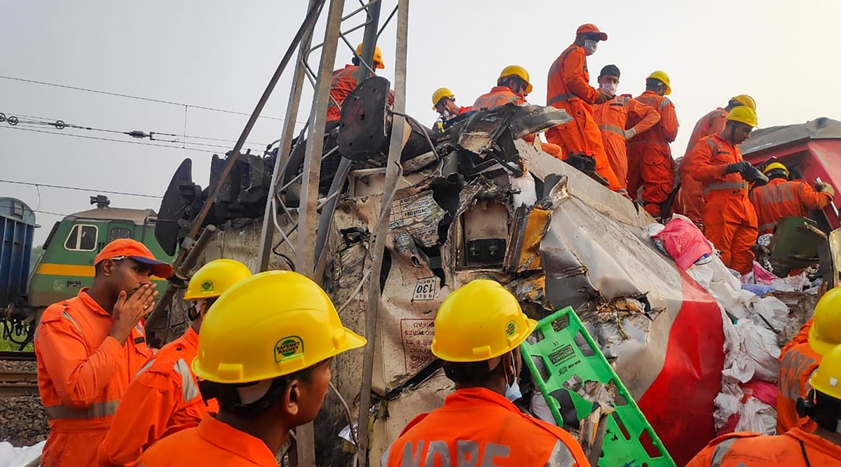
[[[637, 101], [656, 108], [660, 121], [653, 129], [628, 141], [628, 193], [636, 198], [642, 186], [645, 210], [656, 218], [660, 216], [660, 204], [674, 189], [674, 160], [669, 143], [678, 135], [678, 117], [674, 104], [655, 92], [643, 92]], [[637, 124], [637, 118], [631, 116], [628, 124]]]

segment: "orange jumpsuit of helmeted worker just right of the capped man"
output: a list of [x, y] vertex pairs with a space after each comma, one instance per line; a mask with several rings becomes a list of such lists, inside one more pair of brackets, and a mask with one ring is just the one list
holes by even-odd
[[133, 465], [158, 439], [197, 426], [207, 411], [219, 411], [215, 399], [204, 405], [190, 370], [197, 348], [198, 333], [188, 328], [140, 370], [99, 446], [100, 465]]

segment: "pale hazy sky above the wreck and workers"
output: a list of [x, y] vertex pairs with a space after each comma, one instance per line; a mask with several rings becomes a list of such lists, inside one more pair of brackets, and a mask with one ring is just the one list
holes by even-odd
[[[0, 76], [48, 81], [193, 106], [250, 113], [304, 18], [306, 0], [221, 2], [105, 0], [62, 2], [0, 0]], [[394, 0], [383, 0], [384, 18]], [[619, 92], [637, 96], [644, 78], [662, 69], [672, 79], [680, 132], [672, 145], [683, 155], [698, 118], [748, 93], [757, 101], [760, 126], [841, 119], [841, 3], [833, 0], [650, 3], [521, 0], [415, 0], [410, 6], [407, 111], [430, 124], [431, 92], [450, 87], [470, 105], [495, 84], [507, 65], [525, 66], [534, 91], [546, 102], [546, 75], [583, 23], [609, 34], [589, 58], [591, 84], [602, 66], [621, 69]], [[346, 11], [359, 3], [347, 0]], [[323, 27], [325, 14], [320, 26]], [[358, 24], [362, 21], [359, 17]], [[380, 38], [386, 69], [394, 76], [396, 18]], [[349, 29], [346, 27], [345, 29]], [[316, 42], [323, 34], [316, 32]], [[362, 30], [351, 34], [354, 44]], [[340, 48], [336, 67], [351, 54]], [[317, 58], [312, 60], [317, 66]], [[263, 115], [283, 117], [291, 69], [284, 73]], [[305, 97], [311, 98], [311, 93]], [[84, 127], [182, 134], [184, 108], [0, 79], [0, 112], [61, 119]], [[309, 101], [297, 118], [304, 121]], [[236, 139], [246, 116], [189, 108], [186, 134]], [[24, 128], [24, 125], [19, 125]], [[33, 127], [29, 127], [32, 129]], [[121, 134], [77, 129], [45, 131], [140, 141]], [[280, 137], [281, 122], [263, 118], [251, 147]], [[167, 138], [167, 137], [162, 137]], [[192, 139], [192, 141], [197, 141]], [[200, 140], [204, 144], [230, 144]], [[148, 140], [142, 142], [148, 143]], [[164, 143], [161, 143], [164, 144]], [[169, 144], [169, 143], [167, 143]], [[225, 148], [190, 145], [194, 149]], [[230, 150], [230, 147], [228, 150]], [[0, 180], [81, 186], [88, 192], [0, 182], [0, 197], [18, 197], [42, 212], [89, 208], [96, 189], [162, 195], [181, 160], [193, 159], [193, 177], [208, 183], [211, 153], [124, 144], [9, 129], [0, 123]], [[151, 207], [154, 198], [108, 195], [113, 207]], [[36, 213], [43, 226], [36, 244], [59, 216]]]

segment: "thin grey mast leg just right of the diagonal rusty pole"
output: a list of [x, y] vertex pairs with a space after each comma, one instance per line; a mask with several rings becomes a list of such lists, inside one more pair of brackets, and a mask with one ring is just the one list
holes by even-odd
[[[321, 8], [324, 6], [324, 0], [309, 0], [308, 8], [311, 10], [316, 3], [319, 4], [318, 10], [320, 13]], [[254, 272], [266, 270], [268, 268], [268, 261], [272, 253], [272, 241], [274, 239], [274, 232], [272, 228], [274, 227], [274, 224], [270, 222], [269, 216], [274, 218], [275, 213], [277, 213], [277, 210], [272, 207], [272, 197], [275, 193], [280, 191], [277, 189], [278, 181], [283, 180], [283, 172], [285, 172], [286, 165], [288, 164], [289, 152], [292, 150], [295, 119], [298, 117], [298, 111], [301, 104], [301, 92], [304, 89], [304, 70], [300, 64], [306, 50], [309, 49], [309, 45], [312, 43], [314, 27], [315, 21], [313, 21], [310, 28], [307, 29], [304, 39], [301, 40], [301, 44], [298, 49], [298, 59], [296, 61], [297, 66], [295, 66], [295, 73], [292, 77], [292, 87], [289, 90], [289, 103], [286, 107], [286, 118], [283, 120], [283, 131], [281, 132], [280, 144], [278, 145], [278, 155], [274, 159], [274, 171], [272, 171], [272, 183], [269, 186], [269, 197], [266, 200], [266, 209], [263, 213], [263, 225], [260, 232], [260, 247], [257, 254], [257, 270]], [[308, 125], [309, 120], [307, 123], [304, 123], [304, 129], [306, 129]], [[285, 189], [285, 187], [281, 190], [283, 189]], [[281, 202], [281, 204], [283, 204], [283, 202]], [[284, 210], [285, 208], [286, 207], [284, 206]], [[287, 215], [289, 215], [288, 211]], [[281, 232], [281, 235], [285, 237], [283, 232]]]

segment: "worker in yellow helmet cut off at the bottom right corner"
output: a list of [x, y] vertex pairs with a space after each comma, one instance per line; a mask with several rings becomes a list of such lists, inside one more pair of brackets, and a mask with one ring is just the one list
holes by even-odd
[[686, 467], [841, 466], [841, 346], [830, 350], [809, 378], [812, 391], [801, 399], [801, 413], [816, 428], [791, 428], [785, 434], [761, 436], [730, 433], [713, 439]]

